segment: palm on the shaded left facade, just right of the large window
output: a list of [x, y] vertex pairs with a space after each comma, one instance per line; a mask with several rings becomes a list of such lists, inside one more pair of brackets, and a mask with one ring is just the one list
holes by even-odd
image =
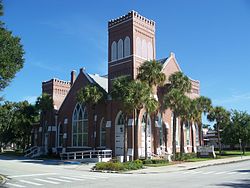
[[98, 104], [104, 96], [104, 92], [100, 90], [100, 88], [96, 85], [87, 85], [84, 88], [81, 88], [77, 92], [77, 101], [79, 103], [85, 103], [88, 106], [92, 106], [93, 110], [93, 122], [94, 122], [94, 130], [93, 130], [93, 138], [94, 138], [94, 148], [96, 147], [96, 104]]

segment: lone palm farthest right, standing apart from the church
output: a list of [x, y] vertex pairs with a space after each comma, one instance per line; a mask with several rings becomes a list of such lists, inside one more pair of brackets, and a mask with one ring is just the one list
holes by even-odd
[[207, 115], [207, 119], [211, 122], [216, 122], [216, 130], [217, 130], [217, 139], [219, 143], [219, 152], [221, 154], [221, 138], [220, 138], [220, 131], [224, 125], [228, 124], [230, 121], [230, 112], [224, 109], [221, 106], [216, 106], [212, 108]]

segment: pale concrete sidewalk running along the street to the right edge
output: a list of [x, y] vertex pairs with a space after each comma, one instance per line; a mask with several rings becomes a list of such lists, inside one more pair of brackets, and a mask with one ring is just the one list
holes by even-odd
[[200, 161], [200, 162], [184, 162], [176, 165], [169, 165], [163, 167], [146, 167], [145, 169], [130, 171], [130, 174], [157, 174], [157, 173], [167, 173], [167, 172], [177, 172], [183, 170], [190, 170], [196, 168], [202, 168], [213, 165], [227, 164], [227, 163], [235, 163], [250, 160], [250, 156], [241, 157], [231, 157], [226, 159], [214, 159], [208, 161]]

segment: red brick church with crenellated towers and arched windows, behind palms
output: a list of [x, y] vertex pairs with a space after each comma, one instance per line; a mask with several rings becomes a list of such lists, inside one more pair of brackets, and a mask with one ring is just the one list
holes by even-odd
[[[155, 22], [135, 11], [108, 22], [108, 75], [89, 74], [84, 68], [71, 72], [70, 81], [51, 79], [42, 83], [42, 92], [52, 96], [54, 110], [47, 114], [44, 123], [33, 129], [33, 145], [43, 147], [45, 152], [70, 152], [93, 149], [110, 149], [113, 156], [122, 156], [124, 147], [123, 110], [109, 96], [112, 80], [121, 75], [130, 75], [136, 79], [138, 67], [147, 60], [156, 58]], [[174, 53], [157, 60], [163, 65], [162, 72], [168, 78], [172, 73], [181, 71]], [[199, 96], [199, 81], [191, 80], [190, 98]], [[96, 114], [89, 106], [76, 100], [80, 88], [88, 84], [97, 84], [107, 93], [107, 99], [96, 106]], [[158, 96], [157, 96], [158, 95]], [[156, 98], [163, 96], [157, 92]], [[172, 112], [167, 109], [150, 117], [148, 138], [145, 138], [145, 111], [139, 115], [138, 148], [134, 148], [134, 121], [131, 115], [128, 121], [128, 155], [137, 150], [139, 157], [147, 152], [152, 155], [161, 151], [172, 152]], [[180, 125], [177, 119], [177, 151], [180, 148], [180, 126], [184, 126], [185, 152], [196, 151], [202, 143], [198, 126]]]

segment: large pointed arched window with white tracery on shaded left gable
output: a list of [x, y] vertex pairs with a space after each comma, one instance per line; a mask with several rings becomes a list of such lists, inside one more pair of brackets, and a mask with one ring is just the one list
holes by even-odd
[[72, 125], [73, 146], [88, 146], [88, 113], [79, 103], [73, 113]]

